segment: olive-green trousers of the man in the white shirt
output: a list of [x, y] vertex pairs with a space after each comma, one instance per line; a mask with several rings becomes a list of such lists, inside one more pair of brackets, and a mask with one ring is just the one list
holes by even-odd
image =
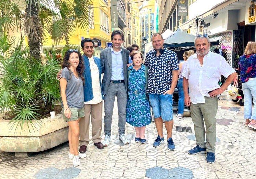
[[[194, 123], [196, 144], [206, 148], [207, 152], [215, 152], [216, 142], [216, 113], [218, 110], [217, 96], [204, 97], [205, 103], [192, 104], [190, 112]], [[205, 124], [205, 128], [204, 128]], [[205, 143], [206, 137], [206, 143]]]

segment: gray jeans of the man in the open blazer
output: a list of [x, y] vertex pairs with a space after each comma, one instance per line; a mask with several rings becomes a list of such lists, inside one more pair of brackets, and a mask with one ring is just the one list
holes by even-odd
[[125, 83], [110, 83], [107, 93], [104, 95], [104, 132], [105, 135], [111, 135], [111, 123], [114, 109], [115, 97], [117, 97], [118, 108], [118, 133], [125, 134], [126, 123], [126, 102], [127, 93], [125, 90]]

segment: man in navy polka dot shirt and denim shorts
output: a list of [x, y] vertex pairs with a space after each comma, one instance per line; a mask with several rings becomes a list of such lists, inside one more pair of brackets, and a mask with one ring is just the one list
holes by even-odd
[[172, 140], [172, 94], [178, 81], [177, 54], [166, 49], [161, 33], [154, 33], [151, 38], [154, 49], [146, 54], [145, 65], [148, 70], [148, 88], [150, 105], [155, 117], [155, 125], [158, 137], [153, 143], [159, 147], [164, 143], [163, 121], [167, 130], [167, 147], [175, 150]]

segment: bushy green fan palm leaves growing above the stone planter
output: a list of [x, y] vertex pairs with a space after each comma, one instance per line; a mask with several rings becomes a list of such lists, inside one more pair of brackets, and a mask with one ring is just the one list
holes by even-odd
[[[12, 38], [0, 35], [0, 39], [0, 113], [11, 110], [15, 117], [10, 128], [22, 133], [24, 124], [42, 118], [59, 104], [56, 74], [61, 65], [56, 57], [48, 57], [48, 63], [31, 58], [28, 47], [22, 46], [23, 39], [15, 48], [9, 46]], [[31, 126], [34, 130], [33, 124]]]

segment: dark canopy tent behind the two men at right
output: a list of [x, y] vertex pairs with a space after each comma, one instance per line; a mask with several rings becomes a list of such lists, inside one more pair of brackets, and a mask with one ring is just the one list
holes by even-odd
[[[175, 51], [195, 49], [195, 35], [184, 32], [178, 28], [170, 37], [164, 40], [164, 47]], [[211, 40], [211, 45], [219, 45], [218, 40]]]

